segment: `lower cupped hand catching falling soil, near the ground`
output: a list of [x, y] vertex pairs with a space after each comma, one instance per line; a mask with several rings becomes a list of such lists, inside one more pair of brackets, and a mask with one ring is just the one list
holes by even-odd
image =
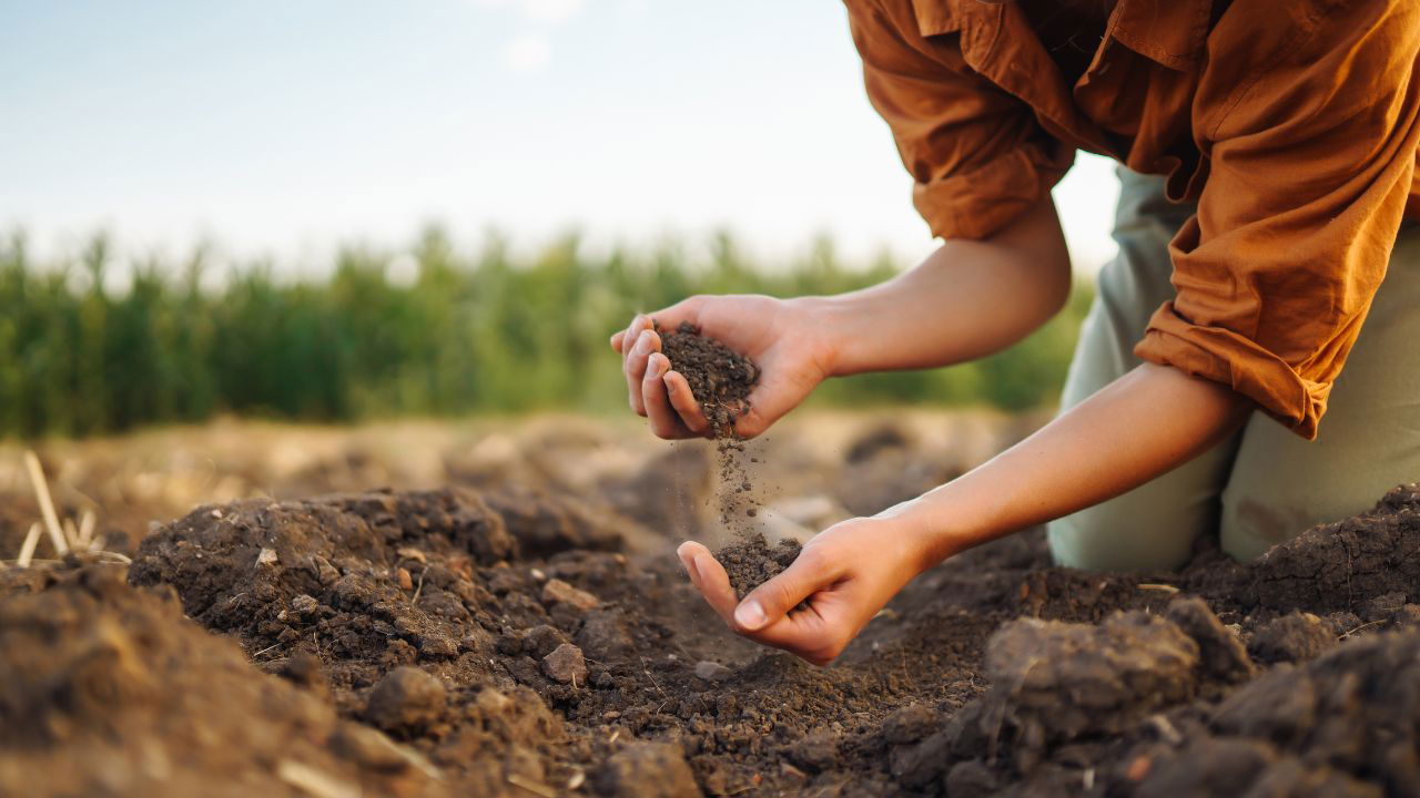
[[[696, 589], [736, 633], [828, 665], [903, 585], [930, 562], [927, 548], [896, 517], [851, 518], [804, 545], [778, 576], [734, 599], [710, 550], [687, 541], [676, 551]], [[799, 602], [805, 609], [794, 609]]]

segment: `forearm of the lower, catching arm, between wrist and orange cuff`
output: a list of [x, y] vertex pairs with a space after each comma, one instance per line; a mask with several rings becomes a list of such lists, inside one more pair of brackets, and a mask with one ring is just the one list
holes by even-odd
[[926, 567], [1126, 493], [1216, 446], [1251, 409], [1224, 385], [1145, 364], [988, 463], [889, 513], [920, 537]]

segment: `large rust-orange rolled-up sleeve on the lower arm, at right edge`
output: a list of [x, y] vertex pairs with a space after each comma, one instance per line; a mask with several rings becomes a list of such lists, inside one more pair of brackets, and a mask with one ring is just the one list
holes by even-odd
[[1135, 352], [1230, 385], [1314, 439], [1416, 169], [1420, 4], [1252, 13], [1224, 17], [1210, 41], [1217, 74], [1203, 78], [1194, 135], [1211, 170], [1172, 244], [1177, 297]]

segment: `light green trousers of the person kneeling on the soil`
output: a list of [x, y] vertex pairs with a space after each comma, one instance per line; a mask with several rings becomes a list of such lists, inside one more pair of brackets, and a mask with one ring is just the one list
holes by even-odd
[[[1135, 344], [1174, 295], [1169, 240], [1193, 213], [1163, 179], [1119, 170], [1119, 256], [1099, 274], [1061, 406], [1139, 365]], [[1251, 559], [1315, 524], [1367, 510], [1420, 480], [1420, 226], [1400, 230], [1386, 280], [1332, 389], [1314, 442], [1262, 413], [1211, 452], [1139, 488], [1049, 524], [1056, 562], [1096, 571], [1181, 565], [1201, 534]]]

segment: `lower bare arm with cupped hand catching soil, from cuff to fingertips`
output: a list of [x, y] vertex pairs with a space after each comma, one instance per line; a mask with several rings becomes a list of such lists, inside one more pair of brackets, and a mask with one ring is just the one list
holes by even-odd
[[1135, 488], [1224, 439], [1251, 409], [1227, 386], [1146, 364], [960, 479], [826, 530], [738, 606], [709, 550], [683, 544], [680, 559], [736, 632], [825, 665], [926, 568]]

